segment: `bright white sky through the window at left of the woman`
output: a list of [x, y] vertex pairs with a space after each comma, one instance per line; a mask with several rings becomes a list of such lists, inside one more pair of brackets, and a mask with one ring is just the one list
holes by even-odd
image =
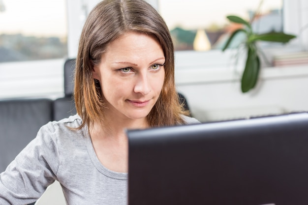
[[66, 36], [66, 0], [1, 0], [0, 34]]

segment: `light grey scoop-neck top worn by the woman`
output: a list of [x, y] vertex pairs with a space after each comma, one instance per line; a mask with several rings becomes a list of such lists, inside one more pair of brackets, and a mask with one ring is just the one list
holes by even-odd
[[[190, 123], [199, 123], [184, 117]], [[98, 160], [87, 126], [78, 115], [41, 127], [7, 169], [0, 174], [0, 205], [36, 201], [58, 180], [68, 205], [126, 205], [127, 173], [105, 168]]]

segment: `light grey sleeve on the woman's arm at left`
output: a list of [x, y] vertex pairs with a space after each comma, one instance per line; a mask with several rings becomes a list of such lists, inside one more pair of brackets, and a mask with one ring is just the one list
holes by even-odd
[[58, 167], [56, 132], [50, 122], [0, 174], [0, 205], [35, 202], [57, 179]]

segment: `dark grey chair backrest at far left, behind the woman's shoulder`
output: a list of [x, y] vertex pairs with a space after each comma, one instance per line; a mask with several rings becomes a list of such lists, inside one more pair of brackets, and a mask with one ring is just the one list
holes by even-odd
[[0, 101], [0, 173], [52, 119], [50, 99]]

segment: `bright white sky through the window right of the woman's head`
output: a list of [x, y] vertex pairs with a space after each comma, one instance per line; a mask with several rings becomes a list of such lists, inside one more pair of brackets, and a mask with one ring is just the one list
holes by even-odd
[[[261, 0], [159, 0], [159, 11], [169, 29], [201, 29], [213, 24], [224, 25], [227, 15], [248, 18], [248, 11], [256, 10]], [[282, 8], [282, 0], [263, 0], [261, 11]]]

